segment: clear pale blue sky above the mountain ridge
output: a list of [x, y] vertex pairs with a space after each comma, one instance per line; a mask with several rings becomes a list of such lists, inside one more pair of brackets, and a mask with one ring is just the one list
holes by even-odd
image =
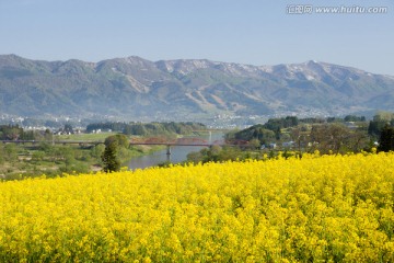
[[[385, 14], [288, 14], [287, 7], [386, 7]], [[310, 59], [394, 76], [391, 0], [0, 0], [0, 54], [99, 61]]]

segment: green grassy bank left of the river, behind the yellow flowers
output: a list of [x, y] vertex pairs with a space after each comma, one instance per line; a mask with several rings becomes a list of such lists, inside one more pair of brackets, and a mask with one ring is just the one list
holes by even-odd
[[[54, 140], [104, 141], [115, 133], [97, 135], [56, 136]], [[99, 145], [53, 145], [50, 141], [37, 141], [35, 145], [0, 145], [0, 179], [21, 180], [45, 174], [47, 178], [63, 173], [89, 173], [102, 170], [102, 153], [105, 149]], [[135, 146], [123, 149], [121, 163], [141, 156], [152, 155], [164, 149], [162, 146]]]

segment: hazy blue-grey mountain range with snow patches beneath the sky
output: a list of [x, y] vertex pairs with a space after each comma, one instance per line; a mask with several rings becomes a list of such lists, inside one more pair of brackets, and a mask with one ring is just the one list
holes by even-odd
[[206, 59], [99, 62], [0, 56], [0, 114], [204, 119], [394, 110], [394, 77], [310, 60], [251, 66]]

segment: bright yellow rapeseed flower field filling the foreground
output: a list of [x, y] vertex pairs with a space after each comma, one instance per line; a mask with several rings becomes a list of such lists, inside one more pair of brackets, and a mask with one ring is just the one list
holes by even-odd
[[394, 262], [394, 153], [0, 183], [0, 262]]

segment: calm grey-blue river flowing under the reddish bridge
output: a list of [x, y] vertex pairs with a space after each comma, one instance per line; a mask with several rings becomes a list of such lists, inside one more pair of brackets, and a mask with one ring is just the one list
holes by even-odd
[[[204, 135], [204, 136], [196, 136], [193, 138], [201, 138], [207, 140], [208, 144], [212, 144], [217, 140], [223, 139], [223, 133], [211, 133], [210, 135]], [[125, 167], [128, 167], [131, 170], [135, 169], [144, 169], [149, 167], [154, 167], [160, 163], [171, 161], [172, 163], [179, 163], [183, 161], [186, 161], [187, 155], [193, 151], [199, 151], [206, 147], [198, 147], [198, 146], [172, 146], [171, 147], [171, 156], [166, 155], [166, 149], [155, 151], [152, 155], [149, 156], [141, 156], [141, 157], [135, 157], [127, 163], [125, 163]]]

